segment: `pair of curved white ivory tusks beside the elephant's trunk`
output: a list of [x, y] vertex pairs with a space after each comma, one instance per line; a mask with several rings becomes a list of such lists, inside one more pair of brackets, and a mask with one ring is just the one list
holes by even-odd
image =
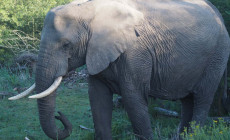
[[[56, 78], [54, 80], [53, 84], [48, 89], [46, 89], [45, 91], [38, 93], [36, 95], [29, 96], [29, 98], [39, 99], [39, 98], [43, 98], [43, 97], [46, 97], [46, 96], [52, 94], [53, 91], [55, 91], [58, 88], [58, 86], [61, 84], [62, 78], [63, 78], [62, 76], [59, 76], [58, 78]], [[22, 92], [16, 96], [10, 97], [9, 100], [18, 100], [20, 98], [23, 98], [23, 97], [29, 95], [30, 93], [32, 93], [32, 91], [34, 91], [35, 87], [36, 87], [36, 85], [33, 84], [26, 91], [24, 91], [24, 92]]]

